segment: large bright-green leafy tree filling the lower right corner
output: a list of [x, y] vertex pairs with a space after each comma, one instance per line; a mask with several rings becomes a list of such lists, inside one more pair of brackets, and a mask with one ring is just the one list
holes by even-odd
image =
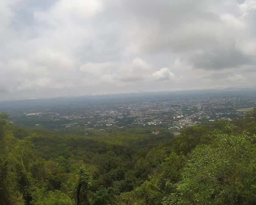
[[[164, 204], [251, 204], [255, 194], [256, 152], [254, 139], [246, 133], [215, 131], [217, 146], [200, 145], [192, 151], [182, 170], [176, 191], [164, 198]], [[250, 197], [247, 197], [248, 192]]]

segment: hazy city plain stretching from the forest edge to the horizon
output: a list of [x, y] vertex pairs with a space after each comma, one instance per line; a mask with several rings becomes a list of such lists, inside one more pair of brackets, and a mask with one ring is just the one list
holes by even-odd
[[[255, 91], [159, 92], [4, 102], [9, 121], [54, 131], [156, 127], [182, 128], [243, 118], [256, 106]], [[154, 132], [152, 134], [158, 134]]]

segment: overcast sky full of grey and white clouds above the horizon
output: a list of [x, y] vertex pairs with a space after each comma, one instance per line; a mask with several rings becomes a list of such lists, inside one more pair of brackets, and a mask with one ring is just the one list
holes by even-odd
[[0, 101], [255, 87], [256, 0], [1, 0]]

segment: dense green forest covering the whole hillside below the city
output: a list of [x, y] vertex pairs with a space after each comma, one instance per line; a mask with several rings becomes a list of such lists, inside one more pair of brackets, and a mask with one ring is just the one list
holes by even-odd
[[1, 113], [0, 204], [256, 204], [254, 117], [177, 136], [146, 128], [85, 136], [23, 129]]

